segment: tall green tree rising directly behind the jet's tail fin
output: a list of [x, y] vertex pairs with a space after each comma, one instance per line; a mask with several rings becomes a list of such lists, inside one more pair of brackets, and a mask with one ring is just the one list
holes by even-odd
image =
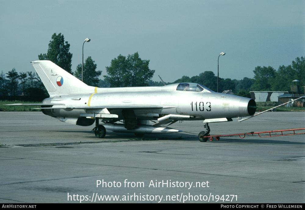
[[47, 54], [38, 55], [39, 60], [49, 60], [66, 70], [70, 74], [73, 74], [71, 69], [72, 53], [69, 52], [70, 44], [65, 42], [65, 39], [61, 33], [52, 35], [52, 40], [49, 43]]

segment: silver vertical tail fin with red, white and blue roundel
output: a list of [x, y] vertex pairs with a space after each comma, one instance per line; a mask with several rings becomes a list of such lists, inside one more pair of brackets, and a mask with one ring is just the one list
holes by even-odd
[[94, 87], [84, 84], [51, 61], [33, 61], [31, 63], [50, 97], [94, 92]]

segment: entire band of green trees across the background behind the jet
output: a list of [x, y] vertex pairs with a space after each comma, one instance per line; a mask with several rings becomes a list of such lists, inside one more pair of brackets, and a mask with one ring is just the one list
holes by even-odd
[[[71, 69], [72, 53], [70, 44], [64, 41], [63, 34], [54, 33], [48, 44], [48, 51], [38, 55], [39, 60], [50, 60], [81, 80], [82, 64], [78, 64], [75, 72]], [[97, 64], [89, 56], [84, 62], [84, 83], [96, 87], [136, 87], [163, 86], [161, 81], [152, 81], [155, 70], [149, 69], [149, 60], [142, 60], [138, 52], [132, 55], [119, 55], [106, 66], [104, 80], [99, 76], [102, 71], [96, 70]], [[244, 77], [242, 80], [219, 78], [219, 92], [232, 90], [236, 95], [250, 97], [249, 91], [290, 91], [292, 80], [299, 80], [299, 85], [305, 84], [305, 58], [297, 57], [289, 66], [280, 66], [275, 70], [271, 66], [257, 66], [254, 78]], [[203, 84], [213, 91], [217, 91], [217, 76], [212, 71], [204, 71], [198, 76], [183, 76], [174, 82], [166, 84], [192, 82]], [[41, 101], [48, 97], [44, 85], [37, 73], [20, 72], [13, 68], [8, 73], [0, 74], [0, 95], [6, 99], [15, 99], [23, 94], [26, 100]]]

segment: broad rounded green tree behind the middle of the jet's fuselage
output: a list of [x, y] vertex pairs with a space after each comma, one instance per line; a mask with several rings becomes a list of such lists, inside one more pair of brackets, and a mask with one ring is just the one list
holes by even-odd
[[111, 65], [106, 67], [104, 78], [110, 87], [137, 87], [148, 86], [155, 70], [149, 69], [149, 60], [142, 60], [138, 52], [128, 55], [127, 59], [119, 55], [111, 60]]

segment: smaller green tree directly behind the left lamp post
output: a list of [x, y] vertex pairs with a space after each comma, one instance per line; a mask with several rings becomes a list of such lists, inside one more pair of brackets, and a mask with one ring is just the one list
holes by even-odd
[[[96, 64], [89, 56], [84, 63], [84, 75], [83, 75], [83, 82], [90, 86], [98, 86], [99, 83], [99, 76], [101, 76], [102, 71], [96, 71]], [[75, 77], [81, 80], [81, 63], [77, 65], [75, 71]]]

